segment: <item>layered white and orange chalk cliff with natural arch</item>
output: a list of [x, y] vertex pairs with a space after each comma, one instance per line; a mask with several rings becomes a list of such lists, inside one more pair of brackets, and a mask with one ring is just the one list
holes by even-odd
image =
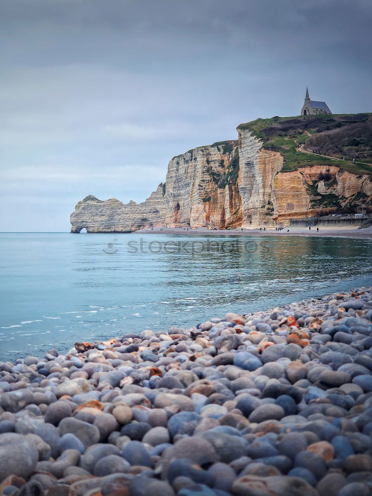
[[[367, 116], [370, 122], [371, 116]], [[344, 121], [332, 121], [347, 122], [341, 117]], [[317, 131], [326, 134], [322, 125], [316, 118], [273, 118], [241, 124], [238, 140], [200, 146], [174, 157], [166, 182], [142, 203], [86, 196], [70, 216], [71, 232], [86, 228], [87, 232], [128, 233], [160, 226], [270, 227], [319, 212], [370, 208], [369, 164], [300, 151], [304, 136], [308, 139], [305, 132], [310, 135], [309, 128], [312, 135]]]

